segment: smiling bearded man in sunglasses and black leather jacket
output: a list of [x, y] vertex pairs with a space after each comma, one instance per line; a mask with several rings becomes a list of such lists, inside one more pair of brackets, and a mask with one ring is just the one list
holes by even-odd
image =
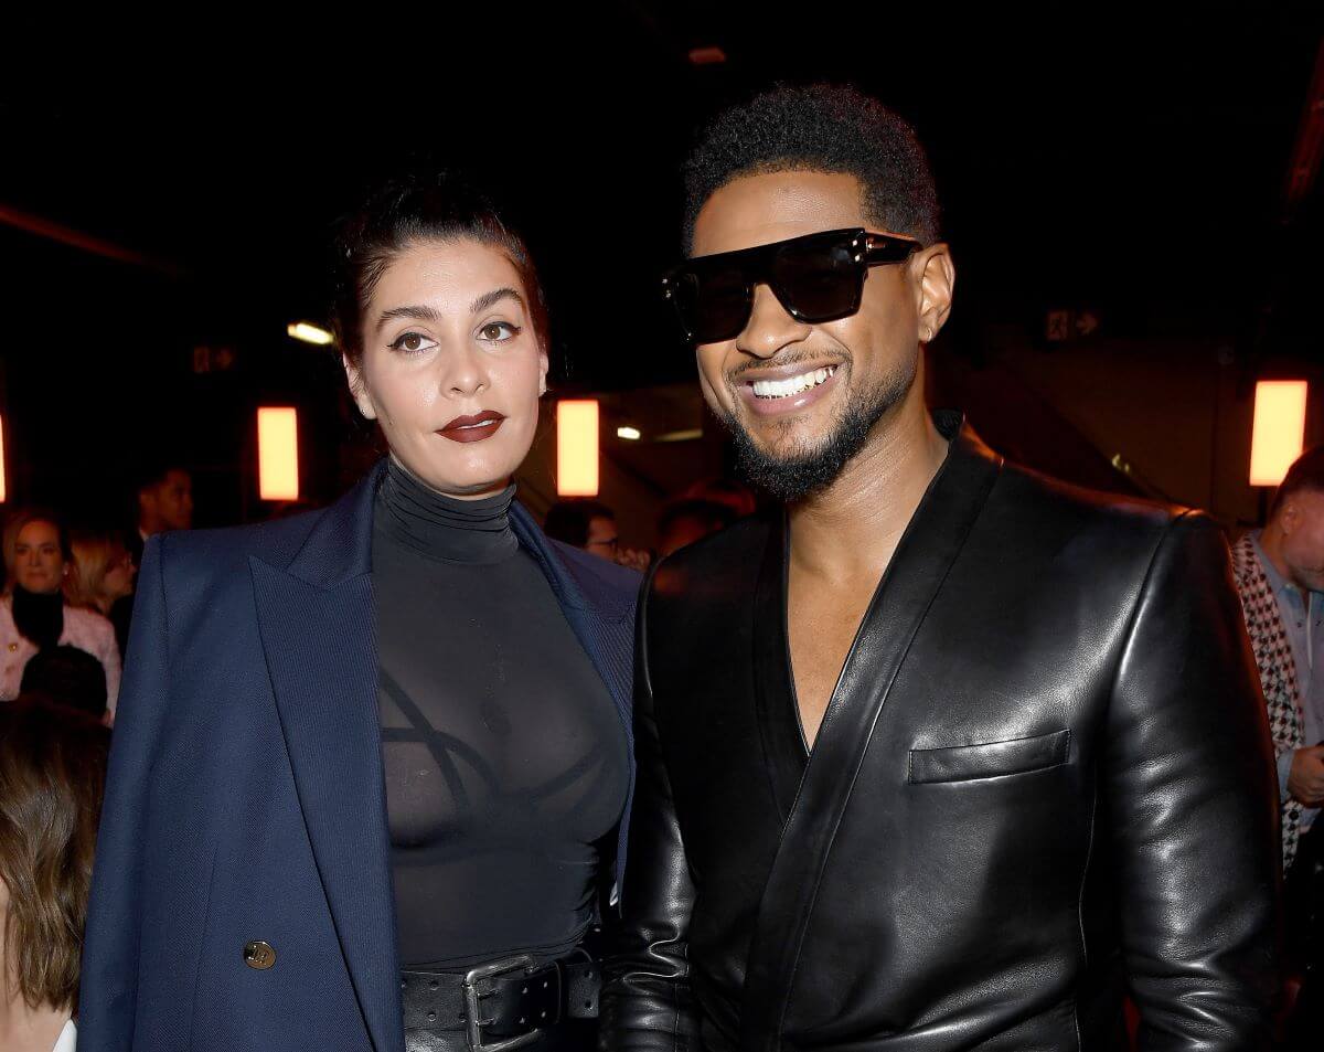
[[955, 269], [876, 102], [779, 89], [687, 183], [666, 288], [784, 511], [645, 588], [606, 1047], [1092, 1049], [1124, 982], [1141, 1048], [1259, 1048], [1274, 775], [1221, 533], [928, 413]]

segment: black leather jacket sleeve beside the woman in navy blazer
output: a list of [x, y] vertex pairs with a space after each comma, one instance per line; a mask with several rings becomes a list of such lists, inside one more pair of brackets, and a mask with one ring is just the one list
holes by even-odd
[[639, 599], [634, 676], [637, 782], [630, 815], [621, 929], [605, 969], [600, 1044], [610, 1052], [698, 1052], [690, 994], [688, 926], [694, 884], [675, 815], [649, 678], [646, 611]]

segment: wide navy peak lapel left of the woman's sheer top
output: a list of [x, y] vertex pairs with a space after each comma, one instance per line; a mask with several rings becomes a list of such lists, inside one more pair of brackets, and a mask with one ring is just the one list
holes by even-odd
[[375, 1048], [404, 1047], [377, 713], [379, 466], [286, 567], [250, 559], [258, 627], [312, 855]]

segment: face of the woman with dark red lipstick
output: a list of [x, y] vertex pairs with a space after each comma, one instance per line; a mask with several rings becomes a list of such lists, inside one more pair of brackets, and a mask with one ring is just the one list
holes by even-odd
[[433, 489], [495, 493], [528, 453], [547, 354], [527, 305], [506, 253], [471, 238], [410, 245], [377, 282], [350, 390]]

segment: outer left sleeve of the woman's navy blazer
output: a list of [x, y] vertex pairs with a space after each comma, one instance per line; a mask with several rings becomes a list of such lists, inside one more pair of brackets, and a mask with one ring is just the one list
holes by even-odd
[[78, 999], [78, 1052], [134, 1047], [147, 790], [168, 698], [160, 538], [151, 538], [134, 600], [128, 660], [97, 835]]

